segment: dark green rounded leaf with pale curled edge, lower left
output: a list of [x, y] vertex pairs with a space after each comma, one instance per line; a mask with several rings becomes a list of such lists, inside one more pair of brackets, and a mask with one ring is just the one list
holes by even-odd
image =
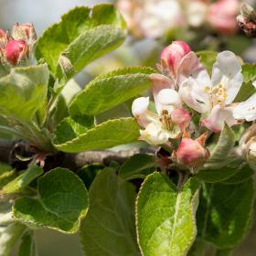
[[87, 189], [68, 169], [56, 168], [38, 178], [38, 198], [20, 197], [13, 216], [28, 225], [74, 233], [88, 208]]

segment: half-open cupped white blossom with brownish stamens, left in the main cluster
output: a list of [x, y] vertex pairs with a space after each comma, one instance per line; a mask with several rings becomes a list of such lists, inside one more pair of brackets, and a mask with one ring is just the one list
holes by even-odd
[[148, 110], [149, 97], [140, 97], [133, 101], [132, 112], [137, 122], [144, 128], [140, 130], [141, 140], [148, 144], [165, 144], [175, 139], [187, 127], [189, 113], [182, 108], [180, 97], [174, 89], [155, 91], [155, 110]]

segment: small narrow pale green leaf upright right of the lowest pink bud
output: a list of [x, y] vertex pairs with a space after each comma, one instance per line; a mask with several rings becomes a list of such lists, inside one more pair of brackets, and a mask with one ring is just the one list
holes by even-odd
[[229, 125], [225, 123], [223, 130], [219, 135], [219, 141], [210, 152], [208, 163], [219, 163], [224, 161], [229, 155], [230, 150], [235, 144], [235, 133], [231, 130]]

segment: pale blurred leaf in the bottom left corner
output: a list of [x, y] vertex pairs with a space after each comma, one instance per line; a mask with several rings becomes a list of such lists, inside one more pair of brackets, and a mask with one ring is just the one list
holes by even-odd
[[9, 256], [16, 240], [25, 231], [26, 226], [14, 222], [6, 227], [0, 227], [0, 252], [1, 256]]

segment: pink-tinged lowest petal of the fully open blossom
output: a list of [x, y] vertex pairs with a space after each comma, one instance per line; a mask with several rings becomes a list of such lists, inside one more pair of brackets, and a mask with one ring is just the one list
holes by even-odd
[[208, 118], [203, 119], [201, 123], [210, 131], [218, 133], [223, 129], [225, 123], [229, 126], [238, 123], [233, 117], [233, 110], [232, 106], [221, 108], [220, 105], [216, 105], [212, 108]]

